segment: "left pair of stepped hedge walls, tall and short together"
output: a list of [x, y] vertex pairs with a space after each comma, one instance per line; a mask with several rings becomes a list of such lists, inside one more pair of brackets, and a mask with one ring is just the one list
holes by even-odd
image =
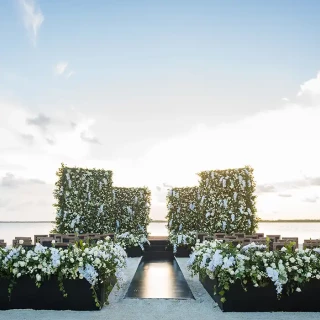
[[112, 171], [61, 165], [54, 191], [55, 233], [147, 235], [151, 192], [113, 188]]

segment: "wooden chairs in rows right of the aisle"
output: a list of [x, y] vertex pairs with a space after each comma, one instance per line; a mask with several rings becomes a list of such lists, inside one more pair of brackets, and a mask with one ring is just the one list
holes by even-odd
[[[245, 246], [251, 242], [256, 244], [267, 245], [269, 239], [269, 249], [270, 250], [280, 250], [284, 246], [292, 243], [293, 248], [299, 248], [299, 239], [298, 237], [281, 237], [281, 235], [264, 235], [264, 233], [254, 233], [252, 235], [246, 235], [244, 233], [234, 233], [228, 235], [225, 233], [215, 233], [214, 235], [208, 235], [206, 233], [199, 233], [198, 239], [200, 242], [204, 240], [222, 240], [223, 242], [230, 242], [234, 245], [240, 244]], [[304, 240], [303, 248], [315, 248], [320, 247], [320, 239], [317, 240]]]

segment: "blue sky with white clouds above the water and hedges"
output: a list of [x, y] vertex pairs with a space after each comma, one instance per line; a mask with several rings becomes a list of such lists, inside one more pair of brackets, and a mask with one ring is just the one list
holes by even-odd
[[0, 220], [54, 220], [55, 172], [170, 186], [250, 165], [264, 219], [320, 219], [318, 0], [2, 0]]

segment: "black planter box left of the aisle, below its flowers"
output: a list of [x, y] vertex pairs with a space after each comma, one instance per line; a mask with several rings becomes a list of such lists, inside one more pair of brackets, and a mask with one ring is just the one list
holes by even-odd
[[[35, 310], [99, 310], [93, 298], [91, 285], [85, 279], [64, 280], [67, 297], [59, 289], [57, 277], [42, 282], [40, 288], [35, 280], [23, 276], [16, 280], [11, 297], [8, 296], [9, 280], [0, 278], [0, 310], [35, 309]], [[107, 301], [106, 286], [114, 286], [115, 279], [100, 285], [97, 297], [100, 305]]]

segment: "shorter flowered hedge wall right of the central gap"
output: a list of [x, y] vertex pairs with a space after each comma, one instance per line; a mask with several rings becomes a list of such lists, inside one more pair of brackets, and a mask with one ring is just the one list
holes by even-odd
[[201, 195], [198, 187], [173, 188], [167, 195], [167, 228], [172, 233], [199, 231]]

